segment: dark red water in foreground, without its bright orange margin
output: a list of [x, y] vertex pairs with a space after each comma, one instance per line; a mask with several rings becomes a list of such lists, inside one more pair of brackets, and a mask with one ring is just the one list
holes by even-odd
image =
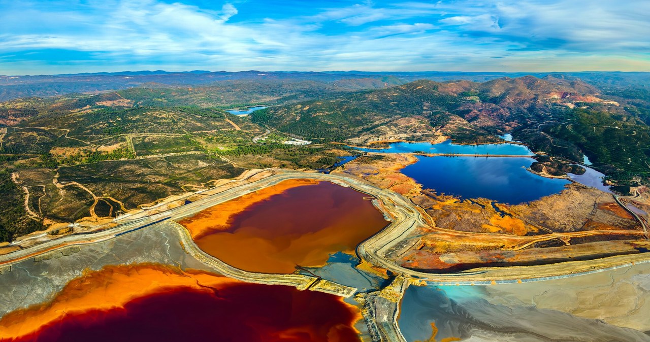
[[359, 341], [357, 315], [334, 295], [288, 286], [180, 287], [68, 315], [14, 341]]

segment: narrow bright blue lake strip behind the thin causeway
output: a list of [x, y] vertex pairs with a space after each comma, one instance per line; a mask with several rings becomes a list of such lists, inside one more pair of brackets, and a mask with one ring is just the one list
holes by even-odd
[[508, 156], [532, 156], [533, 153], [524, 145], [513, 143], [490, 143], [482, 145], [458, 145], [447, 140], [442, 143], [391, 143], [385, 149], [364, 149], [359, 151], [378, 153], [458, 153], [458, 154], [502, 154]]

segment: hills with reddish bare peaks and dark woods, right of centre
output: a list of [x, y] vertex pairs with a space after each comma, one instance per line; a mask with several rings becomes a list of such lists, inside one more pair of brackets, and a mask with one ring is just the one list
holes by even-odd
[[[615, 99], [580, 79], [557, 74], [483, 83], [418, 80], [266, 108], [253, 113], [252, 120], [307, 140], [348, 143], [441, 135], [462, 143], [489, 142], [511, 132], [536, 151], [576, 162], [586, 154], [603, 166], [647, 173], [647, 116], [638, 114], [646, 108]], [[570, 132], [560, 129], [567, 125], [573, 127]]]

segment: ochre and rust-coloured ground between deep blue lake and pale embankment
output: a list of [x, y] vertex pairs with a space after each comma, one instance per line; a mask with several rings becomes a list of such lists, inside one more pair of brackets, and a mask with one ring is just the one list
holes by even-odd
[[[561, 193], [517, 205], [460, 199], [421, 189], [403, 175], [400, 170], [411, 164], [409, 158], [417, 161], [409, 155], [370, 154], [337, 170], [392, 189], [426, 211], [429, 226], [415, 228], [404, 239], [408, 243], [389, 254], [403, 267], [435, 271], [553, 263], [571, 260], [567, 256], [637, 253], [638, 247], [645, 246], [638, 223], [610, 194], [598, 189], [569, 184]], [[525, 252], [528, 249], [544, 257], [534, 260]]]

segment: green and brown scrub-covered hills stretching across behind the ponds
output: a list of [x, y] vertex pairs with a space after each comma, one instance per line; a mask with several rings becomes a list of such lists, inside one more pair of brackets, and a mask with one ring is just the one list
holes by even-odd
[[[209, 187], [244, 169], [320, 169], [352, 154], [328, 141], [358, 145], [450, 136], [476, 143], [500, 141], [497, 134], [510, 132], [534, 151], [574, 162], [584, 153], [622, 185], [632, 178], [648, 182], [645, 97], [621, 97], [626, 94], [621, 89], [601, 96], [593, 86], [562, 75], [484, 83], [418, 80], [345, 91], [396, 82], [148, 84], [99, 95], [0, 103], [1, 195], [6, 200], [0, 240], [40, 229], [43, 221], [115, 217]], [[260, 102], [273, 105], [251, 117], [223, 110]], [[313, 145], [284, 144], [291, 136]], [[29, 191], [27, 202], [20, 186]]]

